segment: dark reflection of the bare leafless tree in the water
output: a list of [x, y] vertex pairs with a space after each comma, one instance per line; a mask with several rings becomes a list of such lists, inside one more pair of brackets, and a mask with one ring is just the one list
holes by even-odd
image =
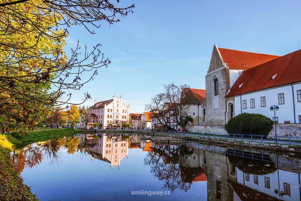
[[188, 191], [193, 178], [202, 170], [199, 167], [190, 168], [186, 163], [193, 148], [188, 150], [185, 145], [162, 145], [151, 149], [153, 151], [148, 152], [144, 158], [144, 165], [149, 165], [154, 176], [165, 182], [163, 189], [174, 191], [178, 188]]

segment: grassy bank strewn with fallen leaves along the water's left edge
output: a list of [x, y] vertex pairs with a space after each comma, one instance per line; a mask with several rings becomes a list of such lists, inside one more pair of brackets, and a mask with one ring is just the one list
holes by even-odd
[[25, 135], [18, 132], [0, 134], [0, 200], [38, 200], [30, 188], [23, 184], [22, 178], [12, 168], [10, 152], [16, 146], [38, 141], [61, 138], [80, 133], [82, 130], [66, 128], [43, 131], [29, 131]]

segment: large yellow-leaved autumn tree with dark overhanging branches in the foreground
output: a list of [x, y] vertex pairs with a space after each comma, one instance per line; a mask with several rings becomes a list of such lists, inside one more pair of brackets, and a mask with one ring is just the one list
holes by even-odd
[[[119, 0], [117, 0], [119, 2]], [[99, 28], [118, 22], [134, 5], [118, 8], [109, 0], [2, 0], [0, 3], [0, 129], [34, 128], [54, 108], [69, 105], [78, 90], [107, 67], [108, 58], [95, 44], [81, 54], [79, 43], [64, 51], [67, 28]], [[86, 80], [80, 75], [91, 72]], [[90, 98], [85, 93], [83, 101]]]

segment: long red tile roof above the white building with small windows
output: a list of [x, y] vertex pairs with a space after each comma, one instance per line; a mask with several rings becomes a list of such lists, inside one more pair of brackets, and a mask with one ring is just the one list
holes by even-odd
[[[275, 78], [270, 80], [273, 76]], [[298, 50], [243, 71], [226, 97], [300, 81], [301, 50]]]

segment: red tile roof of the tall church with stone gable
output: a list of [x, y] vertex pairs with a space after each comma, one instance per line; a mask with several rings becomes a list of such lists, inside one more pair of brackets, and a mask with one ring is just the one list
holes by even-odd
[[279, 56], [219, 48], [224, 63], [231, 69], [247, 70]]

